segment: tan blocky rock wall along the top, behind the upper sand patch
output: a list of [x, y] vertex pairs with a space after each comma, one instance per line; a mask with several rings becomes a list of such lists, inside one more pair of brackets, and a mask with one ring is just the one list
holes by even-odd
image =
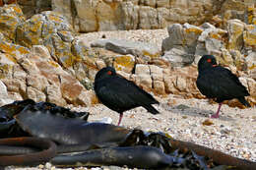
[[[0, 1], [2, 4], [16, 0]], [[98, 30], [165, 28], [174, 23], [200, 25], [219, 15], [225, 21], [256, 21], [253, 0], [23, 0], [18, 1], [27, 18], [42, 11], [65, 16], [80, 32]], [[244, 17], [246, 16], [246, 17]]]

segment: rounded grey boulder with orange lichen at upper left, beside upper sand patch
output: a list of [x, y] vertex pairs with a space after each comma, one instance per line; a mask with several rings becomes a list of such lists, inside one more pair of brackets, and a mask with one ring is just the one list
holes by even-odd
[[16, 42], [31, 48], [32, 45], [44, 45], [51, 56], [64, 67], [76, 62], [71, 52], [73, 28], [64, 17], [54, 12], [43, 12], [19, 25], [16, 29]]

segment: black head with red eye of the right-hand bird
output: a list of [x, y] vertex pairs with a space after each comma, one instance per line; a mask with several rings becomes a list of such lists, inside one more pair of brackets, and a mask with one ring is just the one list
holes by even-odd
[[198, 62], [198, 71], [203, 71], [217, 66], [217, 61], [213, 55], [203, 55]]

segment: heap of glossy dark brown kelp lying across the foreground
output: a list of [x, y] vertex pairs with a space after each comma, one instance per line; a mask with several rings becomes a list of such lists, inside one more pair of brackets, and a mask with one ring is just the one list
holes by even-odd
[[[256, 167], [255, 162], [193, 142], [177, 141], [162, 133], [91, 123], [87, 121], [88, 116], [87, 112], [74, 112], [52, 103], [32, 100], [0, 107], [0, 138], [11, 138], [0, 140], [0, 166], [50, 161], [58, 166], [126, 165], [149, 169]], [[13, 136], [14, 127], [21, 132], [21, 138], [13, 138], [18, 136]], [[30, 136], [27, 142], [22, 138], [24, 136]], [[79, 153], [67, 154], [77, 151]], [[54, 156], [56, 153], [58, 155]], [[14, 156], [22, 157], [11, 159]]]

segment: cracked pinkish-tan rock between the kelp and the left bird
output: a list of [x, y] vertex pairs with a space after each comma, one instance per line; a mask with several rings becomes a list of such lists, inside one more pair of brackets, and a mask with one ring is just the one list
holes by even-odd
[[[35, 51], [39, 51], [38, 55]], [[47, 100], [62, 106], [66, 103], [77, 104], [78, 96], [86, 91], [86, 88], [52, 58], [42, 57], [44, 53], [47, 53], [45, 48], [34, 46], [32, 53], [19, 61], [28, 74], [26, 79], [28, 97], [36, 101]]]

